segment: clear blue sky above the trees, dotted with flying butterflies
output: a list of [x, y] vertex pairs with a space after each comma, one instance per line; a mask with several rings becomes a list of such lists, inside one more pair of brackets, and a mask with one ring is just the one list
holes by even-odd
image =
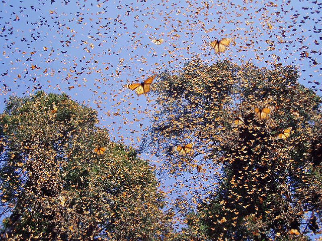
[[[150, 126], [154, 96], [137, 97], [123, 85], [166, 68], [176, 74], [194, 56], [209, 64], [224, 58], [260, 67], [294, 64], [300, 83], [321, 95], [321, 6], [317, 1], [2, 1], [0, 101], [39, 89], [65, 92], [98, 110], [112, 140], [138, 147], [137, 138]], [[234, 38], [235, 46], [222, 54], [206, 44], [224, 37]], [[163, 44], [151, 42], [159, 38]], [[170, 189], [171, 181], [165, 183]]]

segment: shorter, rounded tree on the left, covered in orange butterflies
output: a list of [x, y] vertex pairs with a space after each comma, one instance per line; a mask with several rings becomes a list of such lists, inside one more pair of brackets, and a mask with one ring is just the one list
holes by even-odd
[[67, 95], [11, 97], [0, 117], [3, 240], [163, 240], [154, 174]]

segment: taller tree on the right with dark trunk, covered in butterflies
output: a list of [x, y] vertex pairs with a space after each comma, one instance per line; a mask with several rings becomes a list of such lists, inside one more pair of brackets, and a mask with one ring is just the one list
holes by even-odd
[[191, 239], [307, 240], [321, 228], [321, 98], [298, 77], [293, 66], [196, 59], [155, 83], [143, 148], [175, 177], [191, 167], [214, 175], [212, 193], [186, 213]]

